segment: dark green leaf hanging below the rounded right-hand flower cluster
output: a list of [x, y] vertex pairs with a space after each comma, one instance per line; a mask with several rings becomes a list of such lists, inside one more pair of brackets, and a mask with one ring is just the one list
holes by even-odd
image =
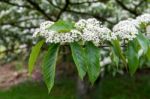
[[138, 53], [136, 53], [133, 44], [131, 42], [129, 42], [128, 44], [127, 59], [128, 59], [129, 72], [131, 75], [133, 75], [138, 69], [139, 58], [138, 58]]

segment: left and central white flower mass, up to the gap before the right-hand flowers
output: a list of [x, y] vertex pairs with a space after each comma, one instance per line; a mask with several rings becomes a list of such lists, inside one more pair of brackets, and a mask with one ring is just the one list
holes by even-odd
[[42, 36], [49, 43], [71, 43], [79, 40], [92, 41], [96, 46], [105, 40], [116, 39], [114, 33], [110, 29], [103, 27], [99, 21], [94, 18], [87, 20], [81, 19], [75, 24], [75, 29], [70, 32], [59, 33], [48, 29], [54, 23], [51, 21], [43, 22], [40, 25], [33, 37]]

